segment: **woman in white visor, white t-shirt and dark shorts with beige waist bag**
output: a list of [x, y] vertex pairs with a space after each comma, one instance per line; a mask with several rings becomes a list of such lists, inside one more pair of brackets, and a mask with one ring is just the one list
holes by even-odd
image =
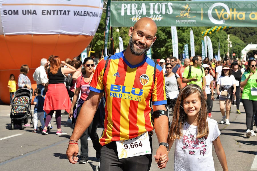
[[[229, 125], [229, 114], [231, 101], [234, 100], [234, 94], [236, 92], [236, 79], [231, 74], [230, 67], [225, 65], [222, 68], [221, 76], [217, 82], [217, 94], [219, 95], [220, 101], [220, 112], [222, 119], [220, 123]], [[226, 103], [226, 115], [225, 115], [225, 103]]]

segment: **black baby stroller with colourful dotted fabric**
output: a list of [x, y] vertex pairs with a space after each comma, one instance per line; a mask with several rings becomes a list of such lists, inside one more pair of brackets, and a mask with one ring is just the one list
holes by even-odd
[[21, 88], [14, 93], [13, 104], [11, 109], [11, 130], [14, 129], [14, 125], [21, 125], [21, 129], [24, 129], [24, 124], [28, 123], [30, 116], [30, 124], [33, 125], [33, 119], [31, 115], [31, 99], [32, 92], [29, 89]]

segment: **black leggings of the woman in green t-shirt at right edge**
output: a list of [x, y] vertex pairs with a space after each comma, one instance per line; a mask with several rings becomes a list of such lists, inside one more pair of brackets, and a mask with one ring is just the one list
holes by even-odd
[[254, 121], [254, 115], [257, 116], [257, 101], [254, 100], [248, 100], [248, 99], [242, 99], [244, 110], [246, 113], [246, 129], [252, 130], [253, 127], [253, 121]]

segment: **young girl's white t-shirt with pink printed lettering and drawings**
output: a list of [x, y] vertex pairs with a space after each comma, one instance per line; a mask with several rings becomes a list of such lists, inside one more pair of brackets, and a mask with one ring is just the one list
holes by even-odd
[[212, 141], [220, 135], [218, 123], [214, 119], [207, 118], [209, 135], [202, 139], [196, 139], [197, 126], [183, 125], [183, 137], [176, 139], [174, 152], [174, 171], [214, 171], [212, 158]]

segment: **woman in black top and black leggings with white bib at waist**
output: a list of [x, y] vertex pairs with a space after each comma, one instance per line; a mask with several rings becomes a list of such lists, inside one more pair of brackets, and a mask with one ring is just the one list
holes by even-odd
[[[239, 70], [239, 65], [237, 61], [232, 62], [231, 64], [231, 69], [232, 69], [232, 75], [235, 77], [236, 79], [236, 113], [240, 114], [240, 110], [239, 110], [239, 104], [240, 104], [240, 81], [241, 81], [241, 77], [242, 77], [242, 72], [241, 70]], [[234, 104], [234, 101], [232, 101], [232, 103]]]

